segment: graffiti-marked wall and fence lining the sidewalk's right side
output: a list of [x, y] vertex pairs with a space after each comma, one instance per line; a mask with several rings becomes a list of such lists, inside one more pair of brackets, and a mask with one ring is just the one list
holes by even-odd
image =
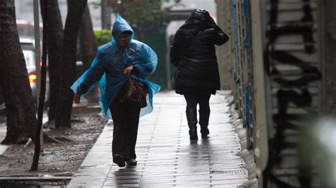
[[[335, 186], [335, 169], [327, 167], [335, 163], [320, 163], [335, 156], [323, 156], [318, 136], [310, 131], [320, 130], [321, 119], [335, 114], [335, 5], [217, 1], [217, 11], [226, 12], [217, 13], [218, 23], [226, 24], [231, 38], [229, 49], [221, 51], [221, 74], [230, 72], [259, 187]], [[336, 150], [335, 143], [328, 144]]]

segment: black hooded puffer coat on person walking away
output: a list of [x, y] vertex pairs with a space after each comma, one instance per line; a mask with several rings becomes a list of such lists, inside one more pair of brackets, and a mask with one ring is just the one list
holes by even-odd
[[176, 93], [210, 92], [220, 90], [215, 45], [228, 41], [208, 11], [195, 9], [174, 37], [170, 61], [177, 66]]

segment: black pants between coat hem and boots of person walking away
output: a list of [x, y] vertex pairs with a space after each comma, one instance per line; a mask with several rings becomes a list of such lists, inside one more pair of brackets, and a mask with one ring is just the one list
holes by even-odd
[[186, 110], [197, 110], [197, 104], [199, 105], [200, 112], [210, 111], [209, 100], [211, 93], [186, 93], [184, 98], [186, 99]]

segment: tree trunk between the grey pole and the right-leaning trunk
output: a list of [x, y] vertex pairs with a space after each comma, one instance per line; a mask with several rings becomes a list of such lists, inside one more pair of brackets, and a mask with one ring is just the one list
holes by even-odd
[[[41, 2], [41, 9], [43, 8]], [[55, 119], [57, 95], [60, 91], [60, 75], [62, 75], [62, 40], [63, 40], [63, 25], [60, 8], [57, 0], [50, 0], [50, 12], [47, 19], [47, 46], [48, 46], [48, 72], [50, 83], [50, 98], [49, 98], [49, 121]]]

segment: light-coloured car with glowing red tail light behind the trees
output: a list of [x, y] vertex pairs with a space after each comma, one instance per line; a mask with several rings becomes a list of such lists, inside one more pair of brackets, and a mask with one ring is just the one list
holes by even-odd
[[[36, 74], [36, 64], [35, 64], [35, 40], [32, 37], [20, 37], [20, 44], [25, 57], [26, 67], [28, 71], [28, 79], [30, 83], [30, 88], [33, 93], [33, 98], [38, 100], [38, 83], [37, 83], [37, 74]], [[46, 81], [46, 100], [49, 96], [49, 78], [47, 76]], [[2, 95], [2, 90], [0, 88], [0, 105], [4, 103], [4, 97]]]

